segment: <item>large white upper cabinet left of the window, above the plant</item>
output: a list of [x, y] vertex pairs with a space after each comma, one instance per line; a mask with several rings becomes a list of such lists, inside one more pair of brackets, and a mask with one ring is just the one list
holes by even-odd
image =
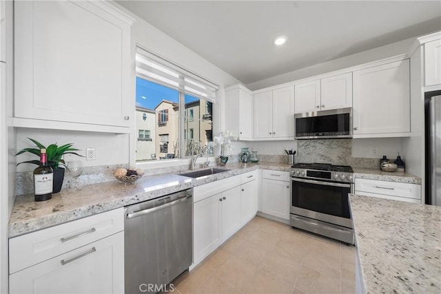
[[133, 20], [105, 1], [17, 1], [14, 13], [14, 117], [128, 129]]

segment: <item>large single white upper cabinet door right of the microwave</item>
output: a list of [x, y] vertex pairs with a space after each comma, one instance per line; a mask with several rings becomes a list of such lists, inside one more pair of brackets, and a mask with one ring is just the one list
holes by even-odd
[[353, 72], [353, 135], [410, 132], [409, 59]]

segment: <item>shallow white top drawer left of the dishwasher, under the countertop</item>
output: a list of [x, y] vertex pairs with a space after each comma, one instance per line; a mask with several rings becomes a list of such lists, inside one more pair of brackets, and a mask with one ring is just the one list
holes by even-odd
[[124, 230], [124, 209], [114, 209], [9, 240], [10, 273]]

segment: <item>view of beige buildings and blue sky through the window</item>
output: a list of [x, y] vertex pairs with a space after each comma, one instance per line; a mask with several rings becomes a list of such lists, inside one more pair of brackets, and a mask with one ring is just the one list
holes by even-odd
[[[180, 99], [183, 96], [183, 99]], [[183, 105], [180, 105], [180, 100]], [[180, 136], [180, 112], [184, 134]], [[189, 143], [205, 149], [212, 142], [213, 105], [144, 78], [136, 77], [136, 160], [160, 160], [189, 156]], [[179, 138], [185, 154], [181, 156]]]

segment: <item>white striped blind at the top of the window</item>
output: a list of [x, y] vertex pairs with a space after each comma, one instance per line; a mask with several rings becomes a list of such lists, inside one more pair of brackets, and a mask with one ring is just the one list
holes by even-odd
[[142, 48], [136, 48], [136, 75], [186, 94], [216, 102], [219, 86]]

